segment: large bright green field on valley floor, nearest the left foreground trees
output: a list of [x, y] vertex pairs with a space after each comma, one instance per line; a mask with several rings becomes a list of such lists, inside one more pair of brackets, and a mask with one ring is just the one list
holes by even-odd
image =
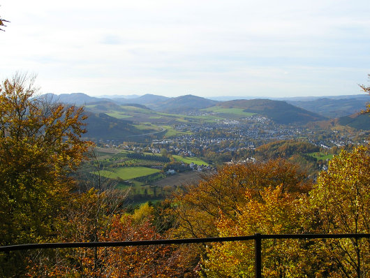
[[[112, 170], [101, 170], [100, 175], [110, 179], [116, 179], [119, 177], [122, 180], [131, 180], [135, 179], [135, 177], [142, 177], [158, 172], [161, 172], [161, 170], [147, 167], [121, 167], [114, 168]], [[98, 172], [93, 172], [93, 174], [98, 175]]]

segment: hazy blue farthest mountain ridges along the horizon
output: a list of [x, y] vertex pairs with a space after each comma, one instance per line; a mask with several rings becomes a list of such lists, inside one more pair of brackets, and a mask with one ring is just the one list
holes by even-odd
[[[178, 97], [158, 96], [155, 94], [145, 94], [143, 96], [123, 96], [114, 95], [112, 97], [94, 97], [83, 93], [73, 94], [46, 94], [48, 97], [59, 100], [63, 103], [75, 105], [85, 105], [98, 101], [111, 101], [117, 104], [137, 103], [145, 105], [147, 108], [162, 110], [163, 112], [186, 112], [194, 109], [207, 108], [217, 102], [235, 101], [238, 99], [233, 96], [218, 96], [213, 98], [202, 98], [200, 96], [186, 95]], [[261, 99], [254, 96], [239, 98], [242, 100]], [[359, 112], [370, 100], [367, 94], [343, 95], [343, 96], [295, 96], [290, 98], [265, 98], [273, 101], [286, 101], [299, 108], [315, 112], [325, 117], [343, 117]]]

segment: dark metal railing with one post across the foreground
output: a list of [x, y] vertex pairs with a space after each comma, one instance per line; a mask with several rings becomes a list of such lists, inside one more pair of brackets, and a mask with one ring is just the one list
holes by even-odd
[[370, 233], [351, 233], [351, 234], [299, 234], [299, 235], [263, 235], [256, 233], [239, 237], [202, 237], [185, 238], [178, 240], [140, 240], [124, 242], [66, 242], [66, 243], [38, 243], [21, 244], [0, 247], [0, 252], [27, 250], [27, 249], [50, 249], [50, 248], [91, 248], [91, 247], [127, 247], [142, 245], [163, 245], [163, 244], [189, 244], [205, 242], [232, 242], [254, 240], [255, 246], [255, 277], [262, 277], [262, 240], [272, 239], [323, 239], [323, 238], [370, 238]]

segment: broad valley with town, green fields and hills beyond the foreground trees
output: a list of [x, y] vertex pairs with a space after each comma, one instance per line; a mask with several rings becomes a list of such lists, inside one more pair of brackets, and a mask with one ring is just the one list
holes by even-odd
[[177, 100], [178, 112], [145, 101], [145, 96], [138, 103], [130, 101], [94, 98], [84, 105], [89, 115], [85, 139], [97, 148], [95, 162], [82, 173], [129, 190], [133, 203], [165, 198], [225, 163], [281, 157], [316, 175], [340, 149], [369, 138], [368, 115], [329, 119], [286, 101], [200, 102], [199, 97], [184, 96]]

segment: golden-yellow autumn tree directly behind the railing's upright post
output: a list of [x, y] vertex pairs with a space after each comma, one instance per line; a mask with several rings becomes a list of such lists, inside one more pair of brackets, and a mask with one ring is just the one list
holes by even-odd
[[[219, 236], [304, 233], [306, 195], [282, 193], [281, 186], [261, 191], [261, 200], [246, 190], [245, 205], [238, 208], [235, 219], [217, 221]], [[262, 241], [264, 277], [314, 277], [315, 265], [299, 240]], [[254, 242], [222, 242], [207, 247], [202, 265], [207, 277], [254, 277]]]

